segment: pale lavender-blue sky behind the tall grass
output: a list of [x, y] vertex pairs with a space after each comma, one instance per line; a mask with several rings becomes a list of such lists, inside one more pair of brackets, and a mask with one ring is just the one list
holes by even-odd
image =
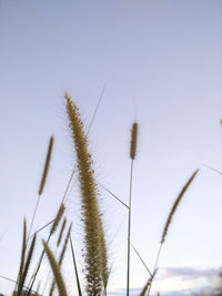
[[[208, 166], [222, 172], [221, 16], [220, 0], [0, 0], [0, 275], [17, 277], [22, 221], [31, 222], [51, 134], [36, 229], [53, 218], [73, 170], [64, 92], [78, 104], [85, 130], [103, 92], [89, 134], [95, 178], [128, 203], [130, 129], [137, 120], [131, 238], [151, 269], [171, 205], [200, 169], [170, 226], [153, 295], [191, 295], [218, 285], [222, 176]], [[110, 295], [124, 295], [127, 211], [102, 188], [100, 203]], [[82, 269], [77, 178], [67, 217]], [[39, 235], [36, 254], [46, 235]], [[70, 258], [68, 251], [62, 272], [72, 294]], [[43, 278], [48, 271], [46, 261]], [[131, 295], [148, 276], [132, 251]], [[0, 278], [0, 293], [12, 289]]]

